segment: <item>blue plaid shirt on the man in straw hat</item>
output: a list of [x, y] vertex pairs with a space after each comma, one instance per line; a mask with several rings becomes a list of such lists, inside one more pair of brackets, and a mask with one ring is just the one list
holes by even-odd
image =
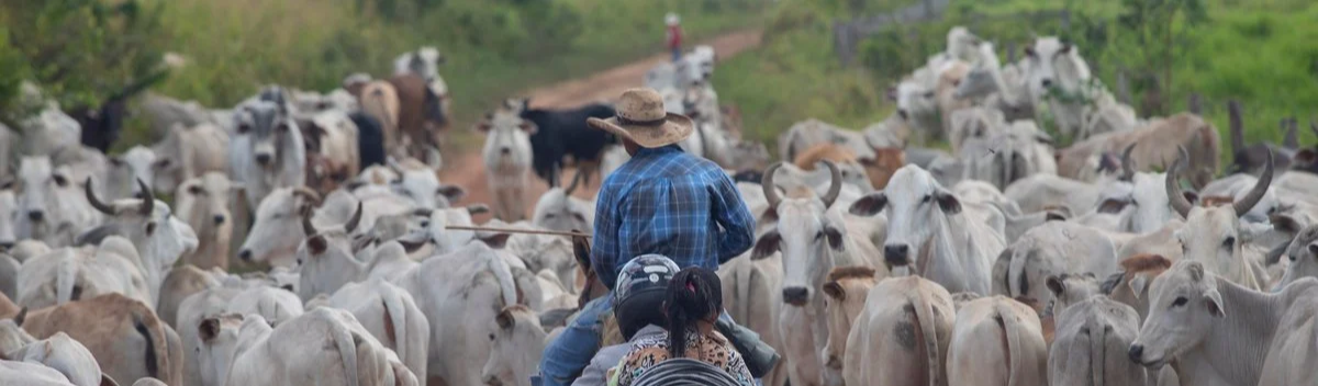
[[750, 249], [754, 232], [755, 217], [718, 165], [676, 145], [641, 149], [600, 187], [590, 265], [609, 289], [647, 253], [717, 270]]

